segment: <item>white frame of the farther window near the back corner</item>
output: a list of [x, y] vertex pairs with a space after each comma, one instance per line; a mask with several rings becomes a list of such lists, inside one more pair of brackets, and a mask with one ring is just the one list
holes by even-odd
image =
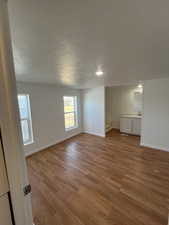
[[[65, 106], [65, 101], [64, 101], [64, 98], [65, 97], [72, 97], [73, 98], [73, 102], [74, 102], [74, 110], [71, 111], [71, 112], [65, 112], [64, 110], [64, 106]], [[76, 128], [78, 128], [78, 97], [76, 95], [64, 95], [63, 96], [63, 112], [64, 112], [64, 126], [65, 126], [65, 131], [71, 131], [71, 130], [74, 130]], [[74, 122], [75, 122], [75, 126], [73, 127], [69, 127], [69, 128], [66, 128], [66, 123], [65, 123], [65, 114], [70, 114], [70, 113], [73, 113], [74, 114]]]

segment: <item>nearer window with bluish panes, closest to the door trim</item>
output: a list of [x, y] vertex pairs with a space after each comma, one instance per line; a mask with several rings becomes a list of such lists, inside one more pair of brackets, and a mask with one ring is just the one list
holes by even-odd
[[32, 120], [30, 112], [29, 95], [18, 95], [18, 104], [21, 120], [21, 129], [24, 145], [33, 142]]

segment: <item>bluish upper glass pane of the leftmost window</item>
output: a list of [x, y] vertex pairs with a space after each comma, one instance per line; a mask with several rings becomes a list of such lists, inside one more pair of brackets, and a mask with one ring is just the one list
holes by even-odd
[[27, 96], [19, 95], [18, 102], [19, 102], [19, 112], [20, 112], [21, 119], [28, 118], [29, 112], [28, 112]]

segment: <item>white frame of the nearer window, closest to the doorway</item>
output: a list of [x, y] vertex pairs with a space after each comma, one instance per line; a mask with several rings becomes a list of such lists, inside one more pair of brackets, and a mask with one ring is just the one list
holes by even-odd
[[[28, 124], [28, 132], [29, 132], [30, 139], [28, 141], [24, 142], [23, 133], [22, 133], [23, 144], [24, 144], [24, 146], [26, 146], [26, 145], [30, 145], [34, 142], [30, 95], [27, 93], [18, 93], [18, 97], [19, 96], [26, 96], [26, 99], [27, 99], [26, 103], [27, 103], [27, 109], [28, 109], [28, 118], [27, 117], [21, 118], [21, 116], [20, 116], [21, 132], [22, 132], [22, 121], [27, 121], [27, 124]], [[19, 107], [19, 99], [18, 99], [18, 107]], [[20, 109], [19, 109], [19, 114], [20, 114]]]

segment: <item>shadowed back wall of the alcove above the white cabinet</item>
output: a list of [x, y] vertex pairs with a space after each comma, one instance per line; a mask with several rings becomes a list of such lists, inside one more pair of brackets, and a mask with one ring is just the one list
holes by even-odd
[[106, 126], [120, 127], [120, 115], [142, 113], [142, 94], [135, 86], [106, 87]]

